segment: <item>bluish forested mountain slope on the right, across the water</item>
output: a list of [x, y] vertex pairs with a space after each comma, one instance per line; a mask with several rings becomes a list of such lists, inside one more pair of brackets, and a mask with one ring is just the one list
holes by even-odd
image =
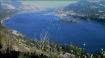
[[105, 1], [89, 2], [86, 0], [78, 1], [66, 7], [57, 9], [55, 15], [73, 16], [89, 21], [105, 23]]

